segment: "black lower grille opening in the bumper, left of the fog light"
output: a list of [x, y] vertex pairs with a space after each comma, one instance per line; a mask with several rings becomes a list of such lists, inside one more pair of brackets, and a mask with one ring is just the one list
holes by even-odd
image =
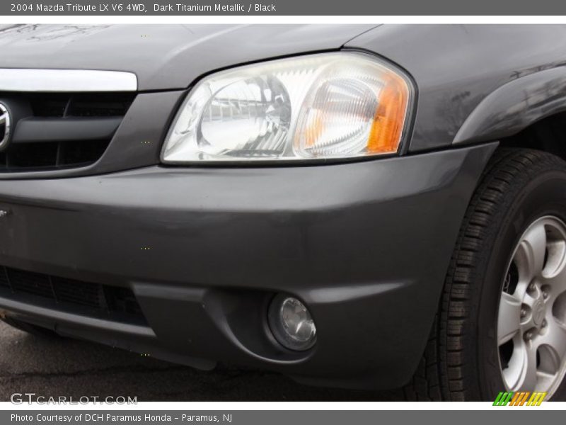
[[[136, 297], [129, 288], [0, 266], [0, 291], [1, 288], [13, 295], [32, 295], [41, 305], [57, 310], [146, 324]], [[33, 300], [26, 299], [28, 301]]]

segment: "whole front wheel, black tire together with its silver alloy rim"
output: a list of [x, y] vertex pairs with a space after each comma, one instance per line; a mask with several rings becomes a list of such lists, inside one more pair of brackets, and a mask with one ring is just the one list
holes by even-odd
[[412, 400], [566, 400], [566, 162], [499, 149], [464, 217]]

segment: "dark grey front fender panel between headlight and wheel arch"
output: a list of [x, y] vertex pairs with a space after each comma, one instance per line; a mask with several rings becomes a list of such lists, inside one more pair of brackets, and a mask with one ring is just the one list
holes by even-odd
[[[483, 113], [483, 100], [499, 87], [514, 81], [509, 89], [522, 91], [532, 83], [530, 74], [566, 64], [566, 27], [562, 25], [386, 25], [348, 42], [346, 47], [379, 53], [406, 69], [419, 91], [419, 104], [410, 152], [449, 147], [453, 142], [497, 140], [501, 132], [466, 135], [458, 131], [470, 114]], [[565, 83], [566, 74], [541, 74], [538, 84]], [[541, 87], [527, 91], [540, 93]], [[505, 92], [509, 94], [510, 92]], [[535, 93], [536, 94], [536, 93]], [[532, 123], [556, 95], [514, 113], [510, 130]], [[502, 104], [512, 108], [512, 104]], [[557, 106], [551, 106], [557, 108]], [[498, 115], [504, 111], [497, 111]], [[499, 116], [505, 120], [502, 116]], [[492, 118], [488, 118], [492, 119]], [[519, 123], [520, 122], [520, 123]], [[475, 131], [488, 130], [489, 123], [474, 123]], [[472, 130], [471, 128], [469, 130]], [[506, 133], [507, 134], [507, 133]]]

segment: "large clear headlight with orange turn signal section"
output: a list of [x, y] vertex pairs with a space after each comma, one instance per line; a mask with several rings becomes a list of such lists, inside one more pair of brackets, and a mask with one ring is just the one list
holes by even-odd
[[411, 96], [400, 72], [354, 52], [218, 72], [187, 96], [161, 159], [251, 162], [395, 153]]

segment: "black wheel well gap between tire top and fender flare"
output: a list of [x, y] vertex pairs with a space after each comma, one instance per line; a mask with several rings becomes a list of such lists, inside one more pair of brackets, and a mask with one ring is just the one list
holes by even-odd
[[500, 143], [501, 147], [538, 149], [566, 160], [566, 112], [537, 121]]

